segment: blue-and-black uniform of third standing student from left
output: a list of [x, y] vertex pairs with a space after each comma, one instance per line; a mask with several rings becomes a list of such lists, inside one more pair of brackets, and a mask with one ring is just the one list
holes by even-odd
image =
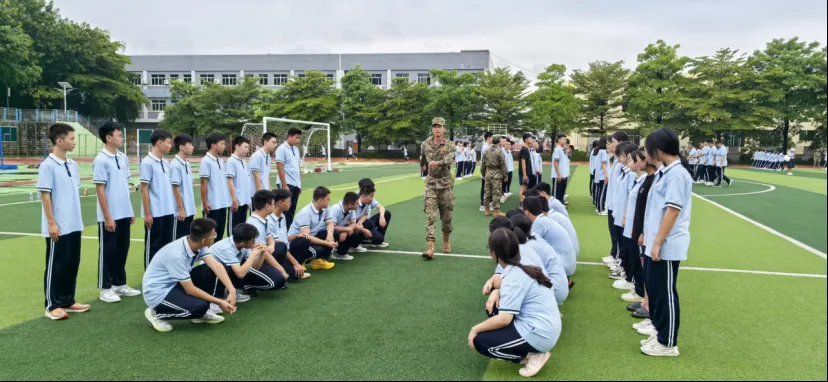
[[[152, 227], [144, 227], [144, 267], [149, 267], [161, 248], [175, 236], [175, 197], [172, 192], [170, 164], [150, 153], [141, 161], [141, 184], [149, 185], [149, 206]], [[141, 216], [146, 216], [141, 204]]]

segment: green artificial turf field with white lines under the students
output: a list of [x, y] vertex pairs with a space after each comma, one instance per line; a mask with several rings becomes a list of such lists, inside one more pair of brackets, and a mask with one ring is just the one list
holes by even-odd
[[[562, 308], [561, 339], [536, 379], [828, 378], [828, 187], [822, 174], [807, 173], [734, 169], [731, 188], [696, 186], [705, 199], [693, 199], [690, 259], [678, 280], [682, 355], [653, 359], [640, 354], [643, 337], [630, 326], [636, 320], [597, 264], [609, 252], [606, 218], [590, 204], [587, 169], [577, 168], [569, 200], [582, 264]], [[77, 293], [93, 310], [63, 322], [42, 318], [40, 204], [28, 202], [25, 192], [0, 196], [0, 257], [6, 264], [0, 278], [0, 379], [521, 379], [515, 365], [484, 359], [466, 343], [469, 329], [485, 318], [480, 290], [493, 270], [485, 250], [488, 219], [478, 211], [479, 178], [455, 188], [452, 243], [458, 256], [424, 263], [417, 255], [424, 249], [425, 216], [416, 164], [346, 166], [340, 173], [307, 175], [303, 186], [325, 185], [332, 198], [341, 198], [366, 176], [377, 182], [377, 199], [393, 213], [386, 251], [357, 254], [286, 291], [263, 293], [222, 325], [175, 322], [167, 334], [146, 322], [140, 297], [114, 305], [97, 300], [94, 197], [81, 199], [87, 240]], [[516, 207], [516, 199], [506, 207]], [[137, 194], [132, 202], [139, 211]], [[132, 238], [127, 267], [130, 284], [138, 287], [140, 219]]]

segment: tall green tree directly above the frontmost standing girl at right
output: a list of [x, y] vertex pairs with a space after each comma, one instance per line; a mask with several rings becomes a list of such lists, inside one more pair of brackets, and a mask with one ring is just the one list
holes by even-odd
[[668, 126], [686, 130], [685, 109], [680, 106], [682, 88], [688, 82], [684, 69], [690, 58], [679, 56], [680, 45], [658, 40], [638, 55], [638, 67], [627, 85], [626, 113], [639, 129]]

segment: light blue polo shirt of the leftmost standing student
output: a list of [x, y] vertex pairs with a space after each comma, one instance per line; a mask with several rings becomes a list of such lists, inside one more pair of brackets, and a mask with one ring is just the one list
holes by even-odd
[[[80, 209], [80, 174], [78, 164], [72, 159], [60, 160], [55, 154], [49, 154], [40, 163], [37, 175], [37, 191], [48, 192], [52, 196], [52, 214], [60, 229], [61, 236], [73, 232], [83, 232], [83, 219]], [[43, 208], [40, 209], [40, 230], [43, 237], [49, 237], [49, 221]]]

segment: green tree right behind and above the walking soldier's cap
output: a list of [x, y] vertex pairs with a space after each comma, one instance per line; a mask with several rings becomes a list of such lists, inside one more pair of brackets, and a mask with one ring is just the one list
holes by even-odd
[[[431, 88], [426, 110], [433, 117], [444, 118], [453, 136], [454, 128], [469, 126], [480, 112], [480, 99], [475, 92], [477, 76], [458, 74], [456, 70], [432, 70], [431, 78], [440, 86]], [[428, 124], [427, 121], [422, 123]]]

